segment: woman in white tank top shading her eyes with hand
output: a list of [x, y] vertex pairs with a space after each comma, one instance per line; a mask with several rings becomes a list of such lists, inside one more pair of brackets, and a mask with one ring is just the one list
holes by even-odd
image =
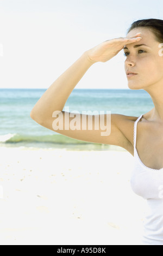
[[[135, 165], [131, 176], [134, 192], [147, 199], [149, 212], [145, 221], [143, 245], [163, 245], [163, 21], [156, 19], [134, 22], [126, 37], [111, 39], [93, 47], [62, 74], [43, 94], [30, 116], [41, 126], [68, 137], [99, 144], [117, 145], [134, 156]], [[106, 62], [124, 50], [128, 87], [143, 89], [151, 96], [154, 108], [140, 117], [111, 114], [111, 133], [101, 135], [95, 129], [99, 121], [93, 116], [77, 114], [86, 129], [71, 127], [70, 113], [62, 111], [65, 103], [86, 71], [96, 62]], [[58, 112], [57, 112], [58, 111]], [[58, 115], [57, 115], [58, 114]], [[86, 117], [86, 118], [84, 118]], [[96, 118], [95, 118], [96, 117]], [[98, 117], [101, 117], [100, 115]], [[107, 115], [105, 117], [105, 124]], [[54, 126], [54, 121], [63, 127]], [[65, 128], [66, 127], [66, 128]], [[133, 140], [134, 138], [134, 140]]]

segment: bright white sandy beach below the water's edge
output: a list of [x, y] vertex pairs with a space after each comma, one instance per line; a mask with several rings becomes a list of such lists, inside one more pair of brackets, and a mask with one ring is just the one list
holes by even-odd
[[1, 245], [139, 245], [127, 151], [0, 147]]

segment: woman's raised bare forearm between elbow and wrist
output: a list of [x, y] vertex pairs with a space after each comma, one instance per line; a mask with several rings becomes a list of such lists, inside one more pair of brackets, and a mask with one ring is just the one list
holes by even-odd
[[48, 116], [52, 117], [54, 111], [62, 111], [74, 87], [76, 87], [92, 64], [93, 62], [87, 57], [86, 52], [84, 52], [83, 55], [47, 89], [35, 104], [30, 116], [36, 118], [37, 121], [43, 121]]

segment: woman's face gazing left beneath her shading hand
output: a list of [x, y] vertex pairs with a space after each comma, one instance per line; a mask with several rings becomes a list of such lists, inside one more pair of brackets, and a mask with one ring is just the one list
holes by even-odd
[[136, 73], [127, 78], [128, 87], [131, 90], [148, 91], [149, 87], [163, 86], [163, 54], [160, 54], [160, 43], [156, 41], [155, 35], [148, 28], [134, 28], [127, 34], [127, 37], [139, 32], [142, 33], [141, 40], [124, 46], [125, 71]]

